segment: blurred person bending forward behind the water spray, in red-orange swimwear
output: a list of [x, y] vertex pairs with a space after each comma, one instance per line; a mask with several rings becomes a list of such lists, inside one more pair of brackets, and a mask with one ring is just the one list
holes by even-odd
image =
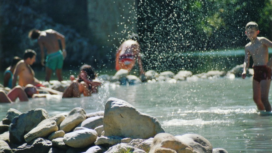
[[130, 36], [130, 40], [124, 41], [117, 50], [115, 69], [125, 69], [130, 72], [134, 67], [136, 60], [138, 61], [140, 76], [144, 76], [145, 72], [142, 65], [142, 59], [140, 56], [140, 45], [138, 41], [138, 35], [133, 34]]

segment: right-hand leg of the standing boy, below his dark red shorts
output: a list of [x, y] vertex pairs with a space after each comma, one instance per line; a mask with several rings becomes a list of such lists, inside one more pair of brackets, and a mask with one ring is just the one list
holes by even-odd
[[261, 101], [264, 105], [265, 111], [271, 111], [271, 105], [268, 100], [269, 88], [270, 88], [271, 80], [262, 80], [260, 82], [260, 90], [261, 90]]

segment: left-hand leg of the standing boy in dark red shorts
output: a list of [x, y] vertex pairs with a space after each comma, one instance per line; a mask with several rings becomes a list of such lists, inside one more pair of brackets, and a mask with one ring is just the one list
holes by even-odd
[[253, 80], [252, 82], [252, 89], [253, 89], [253, 100], [255, 104], [257, 105], [257, 108], [259, 111], [264, 111], [264, 104], [261, 100], [261, 85], [258, 81]]

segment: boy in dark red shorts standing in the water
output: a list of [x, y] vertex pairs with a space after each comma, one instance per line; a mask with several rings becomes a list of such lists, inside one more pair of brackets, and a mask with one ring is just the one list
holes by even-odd
[[258, 24], [247, 23], [245, 34], [250, 42], [245, 45], [244, 70], [242, 78], [246, 77], [246, 70], [249, 67], [250, 55], [253, 59], [253, 100], [260, 111], [271, 112], [271, 105], [268, 101], [268, 94], [271, 82], [272, 58], [268, 60], [268, 47], [272, 42], [265, 37], [257, 37], [259, 34]]

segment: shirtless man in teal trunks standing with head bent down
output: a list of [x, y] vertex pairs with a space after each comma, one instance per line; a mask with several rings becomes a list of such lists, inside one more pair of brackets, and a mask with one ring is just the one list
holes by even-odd
[[[44, 66], [44, 61], [46, 62], [45, 81], [50, 81], [50, 77], [53, 71], [56, 71], [58, 81], [63, 81], [62, 67], [63, 60], [66, 57], [65, 37], [52, 29], [45, 31], [33, 29], [28, 33], [28, 37], [32, 39], [38, 39], [38, 44], [41, 49], [41, 63]], [[59, 47], [58, 40], [61, 42], [62, 50]], [[44, 48], [47, 50], [46, 60], [44, 60]]]

